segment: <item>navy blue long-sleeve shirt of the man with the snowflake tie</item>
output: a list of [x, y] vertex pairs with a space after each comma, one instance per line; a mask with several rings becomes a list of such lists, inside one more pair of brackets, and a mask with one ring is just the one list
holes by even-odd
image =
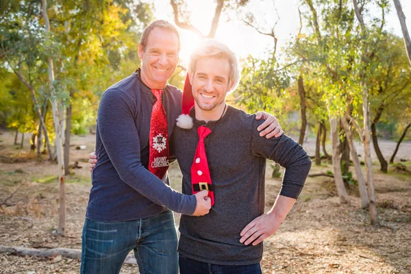
[[[196, 199], [183, 195], [148, 170], [151, 90], [138, 73], [105, 90], [97, 114], [97, 165], [86, 217], [97, 221], [130, 221], [164, 212], [169, 208], [193, 214]], [[162, 102], [167, 114], [169, 138], [181, 114], [182, 92], [164, 88]]]

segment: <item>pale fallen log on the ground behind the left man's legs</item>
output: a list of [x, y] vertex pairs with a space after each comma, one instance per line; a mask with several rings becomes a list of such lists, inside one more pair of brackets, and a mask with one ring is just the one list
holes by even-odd
[[[32, 249], [27, 247], [8, 247], [0, 245], [0, 253], [10, 253], [17, 256], [35, 256], [55, 258], [55, 256], [62, 256], [71, 259], [81, 259], [82, 251], [79, 249], [53, 248], [53, 249]], [[129, 254], [124, 261], [125, 264], [137, 264], [136, 258]]]

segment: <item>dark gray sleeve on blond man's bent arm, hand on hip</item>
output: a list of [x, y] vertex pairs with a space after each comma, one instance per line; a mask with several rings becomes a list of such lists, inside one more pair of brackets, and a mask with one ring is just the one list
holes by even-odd
[[275, 161], [286, 169], [279, 195], [297, 199], [303, 190], [311, 159], [295, 140], [283, 134], [279, 138], [260, 137], [257, 127], [263, 121], [253, 121], [251, 154]]

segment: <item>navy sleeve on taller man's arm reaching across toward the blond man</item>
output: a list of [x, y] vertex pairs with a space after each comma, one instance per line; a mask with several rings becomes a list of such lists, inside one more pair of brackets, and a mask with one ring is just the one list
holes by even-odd
[[142, 165], [134, 105], [134, 100], [121, 90], [107, 90], [101, 98], [97, 123], [114, 169], [125, 184], [151, 201], [175, 212], [193, 214], [197, 206], [194, 195], [173, 190]]

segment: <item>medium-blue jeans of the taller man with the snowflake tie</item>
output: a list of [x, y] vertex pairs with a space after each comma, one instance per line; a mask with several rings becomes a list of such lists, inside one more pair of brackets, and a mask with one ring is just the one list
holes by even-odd
[[173, 212], [114, 223], [86, 219], [80, 273], [119, 273], [132, 250], [140, 273], [177, 274], [177, 234]]

